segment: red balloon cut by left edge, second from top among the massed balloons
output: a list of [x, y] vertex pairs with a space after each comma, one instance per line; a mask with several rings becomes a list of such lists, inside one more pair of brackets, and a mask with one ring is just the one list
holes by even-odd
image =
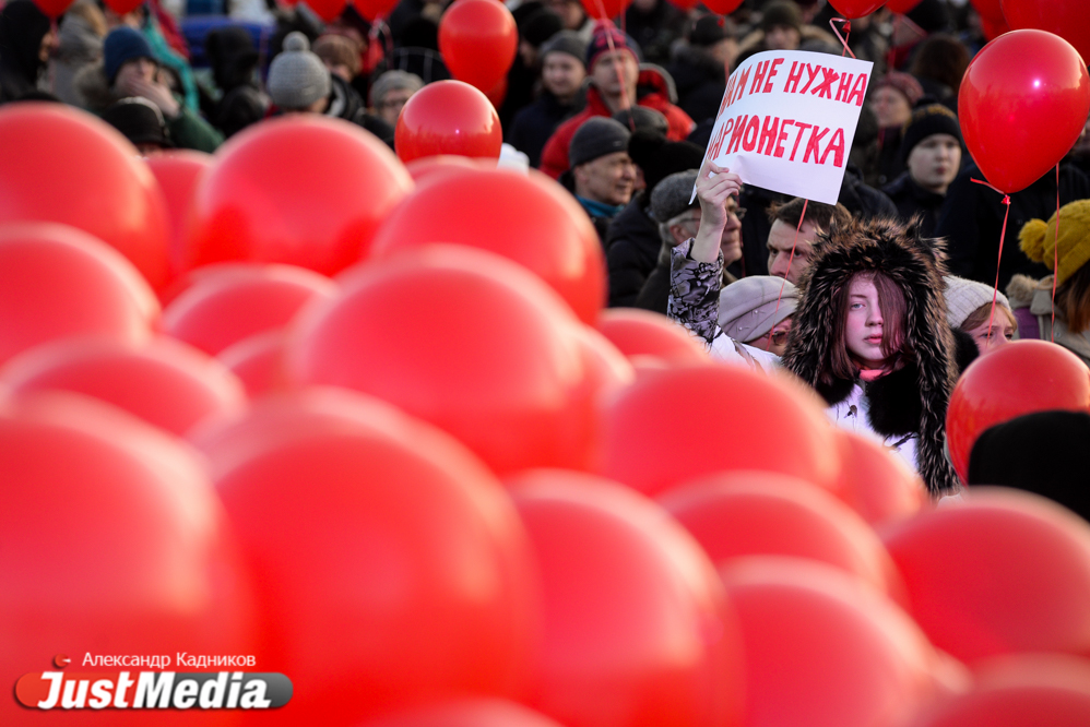
[[66, 336], [141, 341], [158, 315], [140, 273], [86, 233], [46, 223], [0, 225], [0, 364]]

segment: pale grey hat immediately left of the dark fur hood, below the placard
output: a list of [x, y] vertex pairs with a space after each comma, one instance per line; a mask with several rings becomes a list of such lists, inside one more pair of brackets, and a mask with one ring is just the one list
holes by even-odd
[[746, 343], [768, 335], [794, 314], [797, 305], [798, 289], [791, 283], [771, 275], [750, 275], [720, 291], [719, 326], [735, 341]]

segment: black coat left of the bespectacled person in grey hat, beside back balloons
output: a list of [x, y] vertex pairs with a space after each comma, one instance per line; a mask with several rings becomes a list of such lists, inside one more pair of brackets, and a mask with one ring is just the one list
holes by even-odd
[[609, 307], [635, 306], [662, 247], [659, 224], [648, 215], [642, 192], [613, 218], [605, 247]]

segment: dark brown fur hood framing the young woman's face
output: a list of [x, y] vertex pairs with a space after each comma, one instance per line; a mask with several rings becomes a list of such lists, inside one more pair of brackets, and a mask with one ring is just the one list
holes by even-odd
[[885, 437], [919, 436], [916, 462], [933, 494], [959, 487], [946, 456], [946, 407], [957, 381], [955, 339], [943, 297], [945, 259], [937, 240], [920, 236], [920, 221], [908, 228], [890, 219], [853, 221], [822, 236], [819, 252], [799, 282], [784, 366], [837, 404], [856, 381], [822, 381], [830, 368], [833, 297], [856, 273], [881, 272], [905, 297], [904, 343], [914, 351], [904, 367], [869, 384], [869, 425]]

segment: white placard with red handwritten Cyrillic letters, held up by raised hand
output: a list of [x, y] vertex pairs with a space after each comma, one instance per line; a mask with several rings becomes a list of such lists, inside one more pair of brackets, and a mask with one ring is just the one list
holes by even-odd
[[801, 50], [748, 58], [726, 83], [704, 158], [746, 183], [836, 204], [873, 68]]

